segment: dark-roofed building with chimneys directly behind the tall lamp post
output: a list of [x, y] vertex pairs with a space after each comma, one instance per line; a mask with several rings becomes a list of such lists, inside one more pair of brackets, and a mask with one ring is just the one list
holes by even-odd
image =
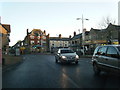
[[70, 48], [73, 49], [78, 55], [83, 54], [83, 45], [85, 50], [88, 49], [89, 43], [91, 42], [90, 37], [89, 37], [89, 31], [86, 31], [85, 29], [85, 36], [84, 36], [84, 41], [82, 38], [82, 33], [77, 34], [74, 32], [73, 37], [70, 38]]

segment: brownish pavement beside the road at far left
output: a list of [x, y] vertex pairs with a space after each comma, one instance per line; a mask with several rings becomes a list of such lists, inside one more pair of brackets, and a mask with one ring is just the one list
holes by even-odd
[[23, 61], [22, 56], [2, 55], [2, 58], [4, 58], [4, 64], [2, 65], [2, 70], [5, 70], [10, 66], [14, 66]]

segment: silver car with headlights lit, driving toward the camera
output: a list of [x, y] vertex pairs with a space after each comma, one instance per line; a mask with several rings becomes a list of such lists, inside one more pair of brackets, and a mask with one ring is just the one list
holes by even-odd
[[74, 52], [73, 50], [69, 48], [61, 48], [58, 49], [58, 51], [55, 54], [55, 62], [61, 62], [61, 63], [72, 63], [75, 62], [75, 64], [78, 64], [79, 56]]

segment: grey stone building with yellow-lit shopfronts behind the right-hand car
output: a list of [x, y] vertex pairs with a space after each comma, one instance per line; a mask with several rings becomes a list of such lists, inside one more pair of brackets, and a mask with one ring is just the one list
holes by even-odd
[[89, 49], [94, 49], [99, 45], [106, 44], [119, 44], [120, 43], [120, 26], [109, 24], [106, 29], [93, 29], [90, 30], [90, 43]]

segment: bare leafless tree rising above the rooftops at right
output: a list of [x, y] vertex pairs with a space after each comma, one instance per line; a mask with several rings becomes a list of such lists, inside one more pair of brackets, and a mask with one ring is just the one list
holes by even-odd
[[99, 27], [100, 27], [101, 29], [107, 28], [107, 26], [108, 26], [110, 23], [111, 23], [111, 24], [115, 24], [115, 23], [116, 23], [116, 20], [110, 18], [109, 16], [103, 17], [101, 23], [99, 24]]

